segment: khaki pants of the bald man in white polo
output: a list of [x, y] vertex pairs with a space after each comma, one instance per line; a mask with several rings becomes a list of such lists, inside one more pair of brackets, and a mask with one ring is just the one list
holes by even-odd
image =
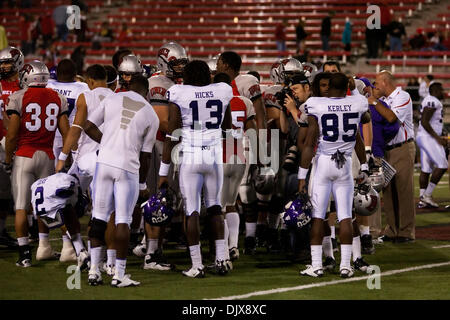
[[384, 211], [388, 237], [415, 239], [416, 207], [414, 204], [414, 158], [416, 146], [408, 142], [386, 151], [386, 161], [397, 173], [384, 190]]

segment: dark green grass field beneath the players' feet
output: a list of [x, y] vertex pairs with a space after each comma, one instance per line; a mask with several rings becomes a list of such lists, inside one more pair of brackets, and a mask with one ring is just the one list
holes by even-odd
[[[416, 177], [417, 180], [417, 177]], [[418, 184], [416, 183], [416, 188]], [[417, 190], [418, 192], [418, 190]], [[450, 203], [448, 176], [435, 191], [434, 198], [441, 206]], [[86, 222], [86, 217], [83, 218]], [[12, 230], [12, 219], [8, 219]], [[427, 212], [417, 214], [417, 226], [450, 224], [450, 212]], [[58, 238], [59, 231], [52, 231], [51, 238]], [[433, 248], [434, 246], [445, 246]], [[61, 247], [61, 241], [52, 241], [54, 249]], [[206, 247], [206, 245], [204, 245]], [[234, 263], [234, 270], [225, 277], [207, 274], [204, 279], [191, 279], [182, 276], [181, 270], [190, 266], [185, 251], [167, 248], [167, 258], [177, 265], [177, 271], [147, 271], [141, 268], [142, 260], [130, 257], [127, 272], [132, 278], [141, 281], [136, 288], [116, 289], [109, 286], [110, 278], [103, 276], [105, 284], [90, 287], [87, 273], [81, 275], [81, 289], [69, 290], [66, 285], [70, 274], [66, 269], [70, 264], [58, 261], [36, 262], [31, 268], [15, 266], [17, 253], [0, 250], [0, 299], [214, 299], [233, 297], [257, 291], [279, 288], [292, 288], [302, 285], [324, 283], [321, 287], [299, 287], [283, 293], [249, 296], [249, 299], [450, 299], [450, 241], [416, 240], [408, 244], [384, 243], [376, 246], [376, 253], [366, 256], [366, 260], [380, 267], [381, 272], [420, 267], [429, 264], [446, 263], [440, 267], [411, 270], [381, 276], [381, 288], [369, 290], [366, 280], [345, 282], [338, 274], [325, 274], [320, 279], [299, 276], [302, 264], [293, 264], [283, 255], [268, 255], [265, 249], [258, 249], [255, 256], [241, 254]], [[35, 249], [34, 249], [35, 253]], [[339, 255], [337, 255], [339, 261]], [[355, 277], [365, 274], [355, 273]], [[328, 284], [335, 281], [336, 283]]]

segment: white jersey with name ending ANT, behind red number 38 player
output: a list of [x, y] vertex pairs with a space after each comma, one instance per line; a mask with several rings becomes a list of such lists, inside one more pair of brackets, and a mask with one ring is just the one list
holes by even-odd
[[[77, 99], [78, 96], [86, 91], [90, 91], [89, 87], [84, 82], [59, 82], [52, 81], [47, 84], [47, 88], [51, 88], [64, 97], [67, 98], [67, 103], [69, 105], [69, 112], [67, 116], [69, 117], [69, 125], [72, 125], [73, 119], [75, 119], [75, 114], [77, 113]], [[59, 130], [56, 131], [55, 140], [62, 140], [61, 133]]]

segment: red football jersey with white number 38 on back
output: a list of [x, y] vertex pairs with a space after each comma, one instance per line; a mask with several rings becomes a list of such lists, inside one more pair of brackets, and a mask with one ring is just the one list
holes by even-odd
[[67, 99], [49, 88], [28, 88], [9, 97], [8, 114], [20, 116], [16, 155], [32, 158], [37, 150], [53, 155], [58, 118], [68, 112]]

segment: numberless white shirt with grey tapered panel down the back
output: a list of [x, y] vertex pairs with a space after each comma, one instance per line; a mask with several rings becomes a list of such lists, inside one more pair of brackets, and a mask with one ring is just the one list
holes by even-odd
[[105, 98], [88, 115], [97, 127], [103, 124], [97, 162], [139, 173], [141, 152], [152, 152], [159, 119], [152, 106], [134, 91]]

